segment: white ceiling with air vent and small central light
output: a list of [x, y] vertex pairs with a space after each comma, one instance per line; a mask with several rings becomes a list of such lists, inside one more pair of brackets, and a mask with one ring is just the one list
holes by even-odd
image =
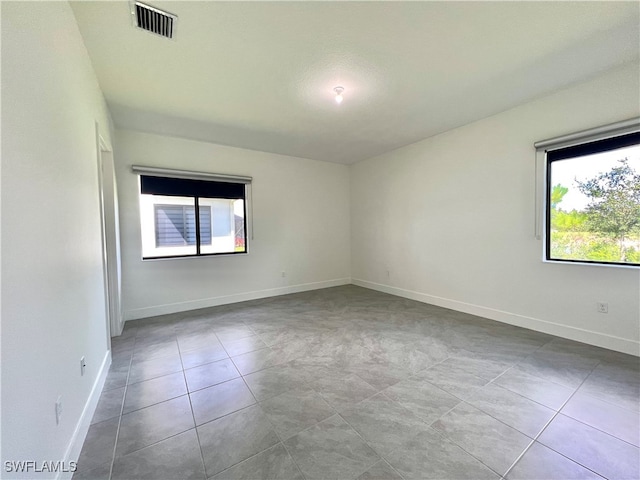
[[[72, 2], [117, 126], [340, 163], [638, 61], [638, 2]], [[344, 102], [332, 89], [345, 87]]]

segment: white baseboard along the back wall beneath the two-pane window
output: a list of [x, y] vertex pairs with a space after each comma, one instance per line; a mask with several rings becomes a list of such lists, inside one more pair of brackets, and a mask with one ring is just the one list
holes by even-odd
[[233, 295], [224, 295], [221, 297], [203, 298], [200, 300], [191, 300], [188, 302], [154, 305], [153, 307], [126, 310], [124, 312], [124, 318], [125, 320], [137, 320], [140, 318], [155, 317], [156, 315], [167, 315], [170, 313], [197, 310], [199, 308], [216, 307], [218, 305], [246, 302], [247, 300], [257, 300], [259, 298], [277, 297], [279, 295], [287, 295], [289, 293], [298, 293], [306, 292], [309, 290], [318, 290], [321, 288], [338, 287], [340, 285], [349, 285], [350, 283], [350, 278], [338, 278], [335, 280], [326, 280], [323, 282], [302, 283], [299, 285], [269, 288], [266, 290], [256, 290], [253, 292], [236, 293]]

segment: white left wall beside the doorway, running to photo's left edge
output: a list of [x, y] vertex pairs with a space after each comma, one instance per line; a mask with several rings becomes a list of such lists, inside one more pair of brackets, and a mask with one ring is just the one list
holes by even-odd
[[108, 359], [96, 121], [109, 140], [69, 4], [2, 2], [3, 470], [75, 460]]

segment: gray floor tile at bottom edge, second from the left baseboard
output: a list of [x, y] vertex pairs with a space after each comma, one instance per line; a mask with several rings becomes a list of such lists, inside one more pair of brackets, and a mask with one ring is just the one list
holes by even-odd
[[111, 480], [204, 479], [198, 437], [194, 429], [117, 457]]

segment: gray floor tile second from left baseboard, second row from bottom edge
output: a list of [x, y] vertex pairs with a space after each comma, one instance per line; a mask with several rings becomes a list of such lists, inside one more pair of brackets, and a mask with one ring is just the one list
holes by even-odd
[[127, 413], [120, 423], [116, 455], [126, 455], [194, 426], [186, 395]]

